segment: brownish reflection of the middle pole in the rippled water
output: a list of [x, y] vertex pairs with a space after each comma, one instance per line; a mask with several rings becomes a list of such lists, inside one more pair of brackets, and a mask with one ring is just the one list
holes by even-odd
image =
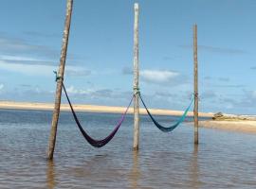
[[138, 188], [137, 180], [140, 178], [140, 171], [138, 167], [138, 153], [139, 152], [137, 150], [133, 151], [133, 167], [130, 173], [131, 186], [135, 189]]

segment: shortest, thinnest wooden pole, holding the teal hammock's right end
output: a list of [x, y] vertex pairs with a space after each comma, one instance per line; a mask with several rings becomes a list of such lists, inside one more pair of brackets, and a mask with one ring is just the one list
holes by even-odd
[[193, 85], [194, 85], [194, 145], [198, 145], [198, 70], [197, 70], [197, 25], [193, 26]]

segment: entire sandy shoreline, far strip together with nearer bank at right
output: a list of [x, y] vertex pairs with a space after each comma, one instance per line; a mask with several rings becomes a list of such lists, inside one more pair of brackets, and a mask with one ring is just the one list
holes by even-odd
[[[126, 110], [125, 107], [97, 106], [97, 105], [73, 105], [76, 112], [105, 112], [105, 113], [122, 113]], [[10, 102], [0, 101], [0, 109], [2, 110], [29, 110], [29, 111], [52, 111], [53, 104], [50, 103], [34, 103], [34, 102]], [[62, 104], [61, 111], [70, 112], [68, 104]], [[133, 113], [133, 108], [130, 108], [128, 113]], [[139, 109], [140, 114], [146, 114], [145, 109]], [[183, 112], [173, 110], [150, 109], [155, 115], [173, 115], [179, 116]], [[193, 116], [193, 112], [189, 112], [188, 116]], [[212, 118], [211, 112], [199, 112], [200, 117]], [[193, 122], [189, 122], [193, 125]], [[200, 120], [199, 127], [210, 129], [224, 129], [229, 131], [256, 133], [256, 121], [252, 120]]]

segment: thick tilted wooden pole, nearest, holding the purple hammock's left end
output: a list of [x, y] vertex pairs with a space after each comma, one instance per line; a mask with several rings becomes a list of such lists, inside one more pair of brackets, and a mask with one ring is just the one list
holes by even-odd
[[61, 98], [62, 98], [62, 89], [63, 89], [63, 79], [64, 79], [64, 64], [66, 58], [67, 51], [67, 43], [69, 36], [69, 28], [71, 22], [71, 14], [72, 14], [72, 6], [73, 0], [66, 1], [66, 14], [65, 14], [65, 26], [64, 26], [64, 35], [63, 35], [63, 46], [61, 52], [61, 60], [59, 66], [58, 77], [60, 79], [57, 80], [56, 86], [56, 94], [55, 94], [55, 105], [52, 114], [52, 123], [51, 123], [51, 131], [49, 137], [49, 146], [48, 146], [48, 159], [53, 159], [54, 147], [56, 142], [56, 134], [57, 134], [57, 126], [59, 121], [60, 107], [61, 107]]

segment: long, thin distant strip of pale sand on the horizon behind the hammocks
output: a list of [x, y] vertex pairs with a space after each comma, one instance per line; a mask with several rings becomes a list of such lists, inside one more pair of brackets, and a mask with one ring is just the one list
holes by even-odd
[[[52, 111], [53, 105], [51, 103], [37, 103], [37, 102], [12, 102], [12, 101], [0, 101], [0, 109], [7, 110], [31, 110], [31, 111]], [[111, 112], [111, 113], [122, 113], [125, 111], [125, 107], [112, 107], [112, 106], [97, 106], [97, 105], [73, 105], [76, 112]], [[133, 113], [134, 109], [130, 108], [128, 113]], [[62, 104], [61, 111], [68, 112], [70, 108], [68, 104]], [[173, 110], [160, 110], [150, 109], [155, 115], [181, 115], [182, 111]], [[145, 109], [139, 109], [141, 114], [146, 114]], [[193, 112], [188, 112], [188, 116], [193, 116]], [[199, 112], [201, 117], [212, 117], [211, 112]]]

